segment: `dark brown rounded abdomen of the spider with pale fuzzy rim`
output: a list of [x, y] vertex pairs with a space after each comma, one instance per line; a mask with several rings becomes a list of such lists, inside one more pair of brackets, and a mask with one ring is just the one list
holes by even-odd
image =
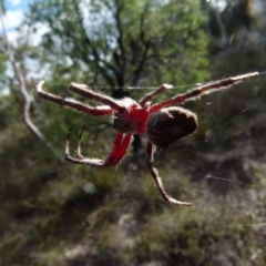
[[183, 136], [192, 134], [196, 129], [196, 114], [183, 108], [167, 108], [150, 115], [146, 137], [157, 147], [167, 147]]

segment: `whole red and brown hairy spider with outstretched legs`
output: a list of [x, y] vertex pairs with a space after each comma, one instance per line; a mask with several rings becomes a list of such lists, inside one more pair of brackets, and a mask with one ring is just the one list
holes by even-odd
[[44, 81], [39, 82], [37, 91], [40, 98], [76, 111], [91, 115], [113, 115], [113, 129], [117, 131], [113, 147], [105, 160], [84, 157], [81, 153], [81, 137], [83, 129], [78, 140], [76, 155], [72, 156], [69, 152], [69, 140], [71, 129], [65, 140], [65, 160], [74, 164], [85, 164], [95, 167], [114, 166], [121, 162], [125, 152], [131, 144], [133, 134], [145, 135], [146, 143], [146, 165], [153, 177], [153, 181], [163, 200], [170, 204], [180, 206], [190, 206], [191, 203], [181, 202], [170, 196], [162, 184], [157, 170], [153, 166], [153, 155], [156, 151], [167, 147], [173, 142], [183, 136], [194, 133], [197, 129], [197, 116], [193, 112], [174, 106], [190, 100], [196, 100], [202, 95], [231, 88], [233, 84], [239, 83], [246, 79], [258, 75], [258, 72], [227, 78], [214, 82], [200, 85], [186, 93], [177, 94], [168, 100], [152, 103], [157, 94], [165, 90], [172, 89], [170, 84], [162, 84], [156, 90], [144, 95], [139, 102], [131, 98], [114, 100], [108, 95], [96, 93], [84, 84], [72, 82], [69, 86], [70, 91], [82, 96], [89, 98], [102, 103], [99, 106], [90, 106], [74, 99], [64, 99], [55, 94], [49, 93], [42, 89]]

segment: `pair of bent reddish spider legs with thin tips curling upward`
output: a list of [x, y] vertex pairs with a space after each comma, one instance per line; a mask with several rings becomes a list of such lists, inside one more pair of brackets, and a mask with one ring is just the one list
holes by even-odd
[[81, 154], [81, 147], [80, 147], [81, 137], [84, 130], [84, 126], [83, 126], [79, 135], [76, 157], [73, 157], [70, 155], [70, 152], [69, 152], [69, 140], [70, 140], [71, 130], [72, 127], [70, 127], [70, 131], [65, 140], [65, 160], [71, 163], [85, 164], [85, 165], [91, 165], [95, 167], [108, 167], [108, 166], [116, 165], [124, 156], [132, 140], [132, 134], [123, 134], [120, 132], [116, 135], [112, 151], [110, 152], [110, 154], [104, 161], [100, 158], [84, 157]]

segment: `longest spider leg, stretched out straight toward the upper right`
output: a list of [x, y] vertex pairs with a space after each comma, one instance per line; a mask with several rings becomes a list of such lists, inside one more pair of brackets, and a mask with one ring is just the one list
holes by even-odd
[[192, 91], [188, 91], [186, 93], [183, 94], [178, 94], [172, 99], [168, 99], [166, 101], [153, 104], [150, 109], [151, 113], [154, 113], [158, 110], [161, 110], [162, 108], [165, 106], [171, 106], [171, 105], [175, 105], [178, 103], [183, 103], [187, 100], [194, 100], [197, 96], [202, 96], [202, 95], [206, 95], [208, 93], [215, 92], [215, 91], [219, 91], [219, 90], [225, 90], [231, 88], [234, 84], [237, 84], [244, 80], [250, 79], [253, 76], [258, 75], [258, 72], [253, 72], [253, 73], [247, 73], [247, 74], [243, 74], [243, 75], [236, 75], [233, 78], [227, 78], [227, 79], [223, 79], [219, 81], [215, 81], [215, 82], [211, 82], [204, 85], [201, 85]]

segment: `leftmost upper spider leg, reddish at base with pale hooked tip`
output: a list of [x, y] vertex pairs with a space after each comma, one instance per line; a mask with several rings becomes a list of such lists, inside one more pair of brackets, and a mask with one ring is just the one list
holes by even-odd
[[38, 91], [38, 95], [40, 98], [43, 98], [50, 102], [60, 104], [60, 105], [64, 105], [68, 108], [72, 108], [76, 111], [83, 112], [83, 113], [89, 113], [92, 115], [108, 115], [108, 114], [112, 114], [113, 110], [111, 106], [108, 105], [103, 105], [103, 106], [89, 106], [86, 104], [83, 104], [74, 99], [64, 99], [58, 95], [54, 95], [50, 92], [43, 91], [42, 85], [43, 85], [44, 81], [41, 81], [38, 83], [37, 85], [37, 91]]

